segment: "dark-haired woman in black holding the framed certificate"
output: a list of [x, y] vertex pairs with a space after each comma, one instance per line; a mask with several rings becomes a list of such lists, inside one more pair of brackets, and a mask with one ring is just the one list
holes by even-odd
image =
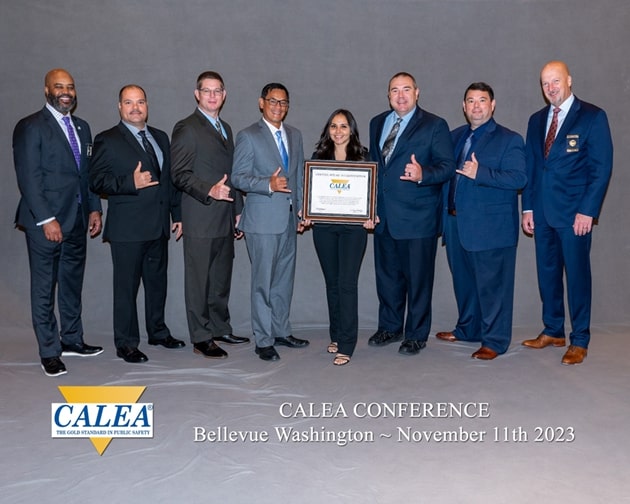
[[[368, 160], [368, 151], [359, 140], [357, 123], [348, 110], [338, 109], [330, 115], [312, 158]], [[363, 226], [328, 223], [313, 226], [313, 243], [326, 281], [330, 322], [327, 351], [335, 354], [335, 366], [348, 364], [357, 344], [359, 270], [367, 244], [367, 230], [373, 228], [371, 220]]]

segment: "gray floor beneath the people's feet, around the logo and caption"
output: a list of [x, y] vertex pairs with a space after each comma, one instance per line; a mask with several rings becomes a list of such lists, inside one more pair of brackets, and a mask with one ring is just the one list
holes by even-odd
[[[210, 361], [184, 350], [141, 348], [150, 361], [115, 357], [109, 336], [92, 359], [65, 358], [68, 374], [45, 377], [28, 327], [4, 328], [0, 501], [226, 503], [620, 503], [630, 502], [628, 327], [597, 327], [581, 366], [560, 365], [563, 350], [520, 346], [535, 329], [516, 328], [508, 353], [470, 358], [476, 345], [430, 338], [420, 356], [397, 345], [367, 346], [362, 331], [352, 362], [333, 367], [324, 331], [301, 331], [303, 350], [279, 348], [265, 363], [253, 346]], [[628, 353], [626, 353], [628, 352]], [[113, 439], [99, 456], [88, 439], [52, 439], [50, 404], [58, 385], [146, 385], [154, 438]], [[487, 418], [357, 418], [362, 404], [488, 403]], [[322, 403], [347, 418], [284, 418], [283, 403]], [[295, 406], [294, 406], [295, 411]], [[374, 415], [376, 416], [376, 415]], [[195, 442], [195, 427], [266, 431], [266, 443]], [[290, 442], [276, 428], [352, 430], [363, 442]], [[495, 428], [500, 441], [494, 441]], [[543, 428], [555, 441], [537, 441]], [[550, 428], [550, 429], [548, 429]], [[399, 441], [400, 430], [421, 441]], [[504, 441], [507, 430], [521, 441]], [[570, 432], [575, 439], [568, 439]], [[485, 431], [481, 442], [464, 441]], [[455, 432], [459, 441], [435, 440]], [[433, 434], [430, 434], [433, 433]], [[434, 436], [426, 441], [424, 436]], [[369, 442], [369, 437], [374, 440]], [[386, 437], [389, 436], [389, 437]]]

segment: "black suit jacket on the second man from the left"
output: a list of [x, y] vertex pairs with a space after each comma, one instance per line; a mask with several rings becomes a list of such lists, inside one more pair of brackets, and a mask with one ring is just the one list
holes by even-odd
[[169, 214], [181, 221], [181, 194], [171, 181], [171, 154], [168, 136], [149, 127], [164, 162], [159, 185], [136, 190], [133, 172], [138, 161], [142, 171], [151, 160], [129, 128], [122, 122], [96, 135], [90, 162], [90, 187], [107, 195], [107, 219], [103, 238], [109, 241], [136, 242], [170, 236]]

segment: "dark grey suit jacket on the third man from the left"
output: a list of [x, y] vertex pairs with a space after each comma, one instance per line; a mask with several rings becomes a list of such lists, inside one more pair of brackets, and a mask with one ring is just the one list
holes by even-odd
[[235, 218], [243, 209], [243, 196], [234, 188], [231, 191], [234, 203], [208, 196], [210, 188], [225, 174], [226, 185], [232, 187], [234, 137], [230, 125], [221, 123], [227, 133], [225, 142], [199, 109], [173, 128], [171, 176], [175, 187], [183, 192], [182, 219], [189, 237], [231, 236]]

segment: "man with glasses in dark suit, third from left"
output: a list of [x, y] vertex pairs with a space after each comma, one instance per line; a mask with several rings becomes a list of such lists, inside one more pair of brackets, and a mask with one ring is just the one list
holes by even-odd
[[236, 225], [243, 197], [232, 190], [234, 137], [219, 118], [226, 98], [220, 74], [197, 77], [197, 108], [173, 129], [171, 175], [182, 195], [184, 226], [184, 292], [193, 351], [210, 359], [227, 357], [219, 347], [248, 343], [232, 334], [230, 288]]

